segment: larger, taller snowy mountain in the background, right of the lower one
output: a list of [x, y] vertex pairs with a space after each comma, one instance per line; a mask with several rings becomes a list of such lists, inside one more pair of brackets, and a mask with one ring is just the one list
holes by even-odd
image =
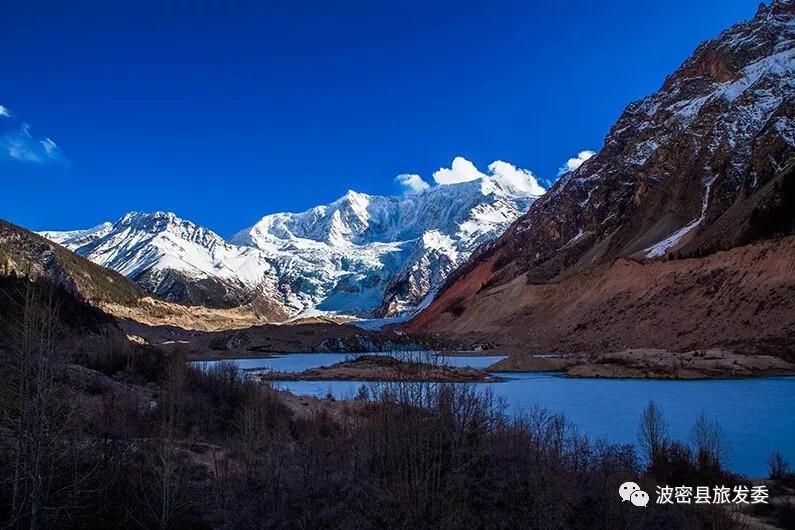
[[410, 312], [543, 193], [528, 173], [506, 175], [403, 196], [349, 191], [304, 212], [266, 215], [230, 241], [269, 256], [296, 312]]

